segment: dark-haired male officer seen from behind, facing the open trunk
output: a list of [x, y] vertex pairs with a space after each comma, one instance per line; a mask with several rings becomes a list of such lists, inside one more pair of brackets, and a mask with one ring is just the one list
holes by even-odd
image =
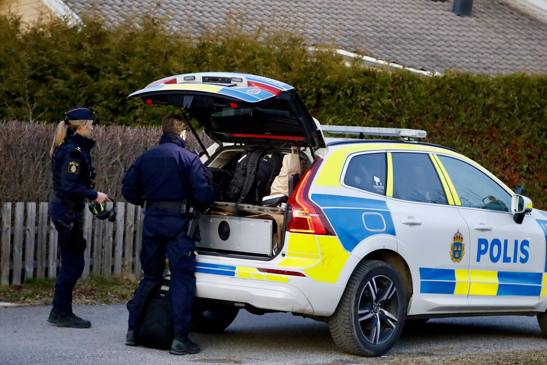
[[147, 291], [161, 280], [165, 256], [171, 270], [171, 316], [175, 337], [170, 354], [197, 354], [198, 345], [188, 339], [195, 294], [195, 241], [187, 234], [189, 207], [206, 210], [214, 201], [205, 167], [185, 149], [188, 125], [180, 115], [162, 121], [160, 144], [142, 154], [127, 170], [122, 194], [132, 204], [144, 206], [141, 264], [144, 278], [127, 303], [129, 329], [126, 345], [137, 345], [137, 322]]

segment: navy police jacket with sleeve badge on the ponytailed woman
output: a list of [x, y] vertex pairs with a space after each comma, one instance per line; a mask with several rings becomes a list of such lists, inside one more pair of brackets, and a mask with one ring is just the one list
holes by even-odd
[[91, 166], [91, 148], [95, 141], [67, 129], [67, 136], [55, 147], [51, 156], [53, 190], [61, 200], [74, 203], [97, 198], [96, 190], [90, 186], [95, 177]]

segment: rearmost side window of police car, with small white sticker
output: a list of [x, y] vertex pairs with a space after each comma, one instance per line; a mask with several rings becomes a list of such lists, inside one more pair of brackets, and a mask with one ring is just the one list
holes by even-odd
[[352, 157], [344, 184], [367, 192], [386, 194], [386, 154], [368, 153]]

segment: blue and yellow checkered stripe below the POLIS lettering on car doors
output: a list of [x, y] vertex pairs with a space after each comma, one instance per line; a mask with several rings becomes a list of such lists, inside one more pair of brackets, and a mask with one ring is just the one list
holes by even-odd
[[420, 293], [545, 297], [547, 273], [420, 268]]

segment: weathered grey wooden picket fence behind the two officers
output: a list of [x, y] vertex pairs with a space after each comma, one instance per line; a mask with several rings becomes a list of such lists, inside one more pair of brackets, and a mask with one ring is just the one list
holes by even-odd
[[[38, 209], [37, 209], [38, 208]], [[107, 209], [112, 202], [107, 202]], [[142, 208], [118, 202], [115, 222], [100, 221], [84, 210], [85, 266], [89, 275], [141, 275]], [[4, 202], [0, 240], [0, 285], [25, 279], [56, 277], [60, 266], [57, 231], [48, 217], [48, 203]]]

